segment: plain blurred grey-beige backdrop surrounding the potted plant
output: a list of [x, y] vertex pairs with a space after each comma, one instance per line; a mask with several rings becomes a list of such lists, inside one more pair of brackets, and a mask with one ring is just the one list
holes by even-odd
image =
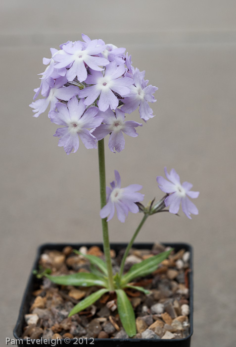
[[[200, 191], [198, 216], [151, 217], [138, 241], [193, 245], [192, 347], [235, 346], [235, 4], [1, 0], [1, 346], [12, 337], [37, 246], [101, 241], [96, 150], [81, 145], [67, 156], [52, 136], [56, 125], [28, 107], [49, 48], [81, 33], [126, 47], [159, 87], [156, 116], [139, 136], [126, 136], [120, 154], [106, 148], [107, 184], [116, 169], [123, 186], [143, 185], [147, 203], [162, 196], [155, 177], [167, 166]], [[131, 119], [139, 121], [137, 111]], [[114, 218], [111, 241], [128, 241], [140, 218]]]

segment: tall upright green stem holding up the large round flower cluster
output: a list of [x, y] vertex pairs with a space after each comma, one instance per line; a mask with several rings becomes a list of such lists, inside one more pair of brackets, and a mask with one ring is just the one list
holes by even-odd
[[[98, 141], [98, 164], [99, 164], [99, 180], [100, 180], [100, 204], [101, 209], [106, 205], [106, 173], [105, 173], [105, 151], [104, 151], [104, 139]], [[108, 223], [106, 218], [101, 220], [102, 235], [103, 235], [103, 251], [106, 259], [108, 284], [109, 289], [114, 290], [111, 255], [110, 255], [110, 242], [108, 234]]]

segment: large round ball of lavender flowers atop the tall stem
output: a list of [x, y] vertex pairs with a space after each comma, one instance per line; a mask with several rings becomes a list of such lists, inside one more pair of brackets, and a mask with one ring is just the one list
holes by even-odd
[[[50, 104], [51, 122], [64, 126], [54, 136], [60, 137], [58, 146], [67, 154], [77, 151], [79, 137], [86, 148], [96, 148], [97, 141], [109, 134], [109, 149], [120, 152], [125, 146], [123, 133], [136, 137], [135, 128], [142, 126], [125, 121], [125, 114], [139, 108], [144, 122], [152, 118], [148, 103], [156, 101], [153, 93], [158, 88], [147, 85], [145, 71], [132, 66], [125, 48], [84, 34], [82, 38], [60, 45], [60, 50], [51, 48], [51, 58], [43, 59], [48, 66], [40, 74], [41, 85], [30, 107], [38, 117]], [[37, 99], [40, 93], [43, 99]]]

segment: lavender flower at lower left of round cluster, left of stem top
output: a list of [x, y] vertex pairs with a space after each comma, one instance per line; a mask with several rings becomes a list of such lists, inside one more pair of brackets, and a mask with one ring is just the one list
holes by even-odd
[[66, 154], [70, 154], [73, 148], [75, 153], [79, 148], [80, 137], [86, 148], [97, 148], [97, 139], [87, 128], [94, 129], [101, 124], [102, 117], [96, 116], [98, 109], [91, 107], [85, 112], [86, 106], [83, 99], [78, 103], [76, 97], [69, 100], [67, 106], [57, 103], [56, 107], [58, 112], [50, 113], [51, 121], [64, 125], [53, 135], [60, 137], [58, 146], [63, 146]]

